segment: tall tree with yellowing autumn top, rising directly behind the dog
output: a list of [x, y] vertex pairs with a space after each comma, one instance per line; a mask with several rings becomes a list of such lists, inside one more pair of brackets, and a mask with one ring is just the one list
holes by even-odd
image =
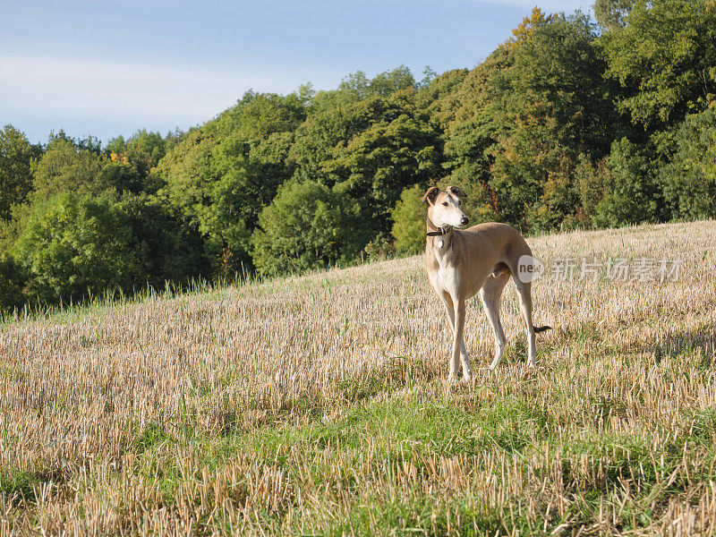
[[447, 131], [447, 166], [477, 183], [500, 220], [524, 229], [578, 224], [579, 155], [603, 157], [614, 129], [605, 64], [582, 15], [533, 10], [458, 90], [462, 107]]

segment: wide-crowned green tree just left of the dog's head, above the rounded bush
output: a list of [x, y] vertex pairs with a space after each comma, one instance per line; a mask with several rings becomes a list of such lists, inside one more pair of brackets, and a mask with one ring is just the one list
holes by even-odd
[[295, 177], [358, 201], [373, 232], [388, 233], [403, 189], [442, 174], [442, 140], [414, 95], [399, 91], [312, 116], [291, 149]]

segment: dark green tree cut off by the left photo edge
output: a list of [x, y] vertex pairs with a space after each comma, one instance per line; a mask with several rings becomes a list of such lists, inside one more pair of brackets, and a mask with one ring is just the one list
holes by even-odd
[[0, 131], [0, 219], [10, 219], [12, 205], [27, 199], [32, 189], [30, 161], [37, 155], [38, 149], [13, 125]]

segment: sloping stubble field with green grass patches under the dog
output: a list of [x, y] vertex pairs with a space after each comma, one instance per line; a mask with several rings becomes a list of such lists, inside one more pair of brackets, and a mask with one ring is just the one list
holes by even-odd
[[[0, 535], [716, 534], [716, 223], [528, 241], [678, 281], [514, 286], [469, 384], [422, 256], [0, 325]], [[628, 279], [628, 278], [627, 278]]]

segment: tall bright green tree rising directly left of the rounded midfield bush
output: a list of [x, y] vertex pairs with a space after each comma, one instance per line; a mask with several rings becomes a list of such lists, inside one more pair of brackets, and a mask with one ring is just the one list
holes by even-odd
[[235, 107], [186, 135], [157, 168], [166, 184], [162, 195], [199, 228], [222, 272], [251, 263], [260, 211], [293, 174], [287, 155], [304, 104], [305, 95], [247, 92]]

